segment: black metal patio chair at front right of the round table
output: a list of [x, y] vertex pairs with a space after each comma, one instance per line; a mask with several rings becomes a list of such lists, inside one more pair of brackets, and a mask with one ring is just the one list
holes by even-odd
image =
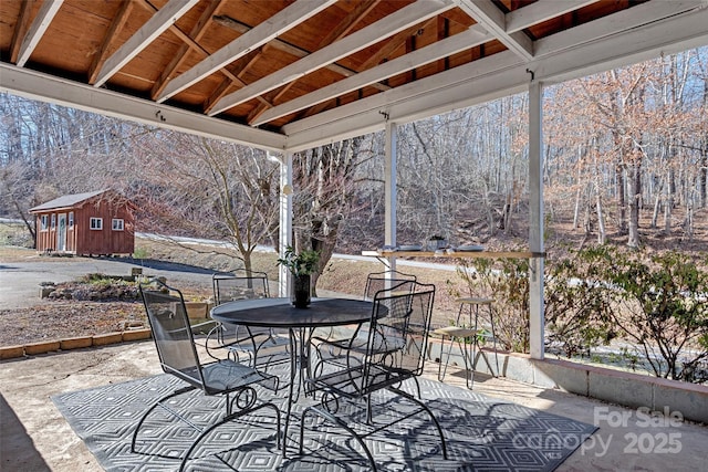
[[[305, 419], [319, 417], [348, 432], [363, 448], [372, 469], [376, 470], [376, 463], [364, 439], [425, 412], [429, 416], [431, 426], [437, 429], [442, 457], [447, 459], [445, 436], [433, 411], [423, 400], [402, 389], [402, 382], [423, 374], [434, 298], [435, 285], [417, 282], [413, 282], [412, 290], [406, 287], [399, 291], [394, 286], [376, 293], [362, 361], [324, 371], [306, 380], [309, 389], [320, 397], [320, 401], [302, 412], [301, 454]], [[417, 408], [395, 415], [392, 411], [393, 403], [388, 402], [386, 408], [375, 409], [374, 396], [381, 390], [387, 390], [395, 398], [409, 401]], [[352, 413], [353, 409], [364, 409], [365, 415]], [[374, 411], [382, 411], [384, 415], [374, 415]]]

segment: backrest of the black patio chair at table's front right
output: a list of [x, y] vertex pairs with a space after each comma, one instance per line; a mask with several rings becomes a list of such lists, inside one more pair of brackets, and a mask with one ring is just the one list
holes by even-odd
[[410, 281], [376, 293], [367, 346], [372, 371], [400, 379], [423, 374], [434, 300], [435, 285]]

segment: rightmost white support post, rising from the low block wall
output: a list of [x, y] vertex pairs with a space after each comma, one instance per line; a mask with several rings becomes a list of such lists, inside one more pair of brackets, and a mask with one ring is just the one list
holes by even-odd
[[[529, 85], [529, 247], [543, 250], [543, 85]], [[543, 359], [543, 258], [529, 260], [530, 350], [532, 359]]]

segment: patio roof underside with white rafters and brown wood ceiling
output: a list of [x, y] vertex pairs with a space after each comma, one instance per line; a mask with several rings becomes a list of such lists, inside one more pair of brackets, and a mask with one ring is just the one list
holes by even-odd
[[[14, 23], [14, 34], [23, 40], [14, 40], [11, 51], [3, 51], [0, 62], [0, 90], [29, 98], [280, 153], [299, 151], [377, 132], [384, 129], [387, 120], [407, 123], [523, 92], [528, 90], [532, 80], [556, 83], [708, 44], [706, 0], [648, 0], [637, 4], [593, 0], [542, 0], [512, 2], [516, 10], [511, 11], [504, 11], [504, 6], [512, 6], [506, 1], [323, 1], [317, 3], [321, 7], [317, 11], [308, 11], [303, 8], [306, 3], [303, 1], [282, 2], [281, 9], [273, 12], [270, 21], [263, 21], [250, 30], [241, 30], [242, 34], [231, 43], [207, 55], [201, 62], [183, 65], [184, 71], [180, 73], [174, 70], [171, 80], [163, 81], [162, 90], [147, 97], [138, 90], [129, 88], [132, 82], [128, 80], [131, 74], [125, 71], [129, 69], [126, 64], [139, 61], [142, 52], [147, 50], [150, 50], [153, 55], [174, 55], [171, 50], [168, 51], [163, 44], [166, 31], [184, 41], [187, 49], [198, 50], [201, 48], [199, 41], [202, 36], [200, 33], [185, 35], [184, 27], [175, 27], [179, 17], [188, 18], [187, 12], [195, 9], [196, 18], [196, 10], [201, 9], [199, 18], [202, 23], [216, 22], [221, 18], [217, 15], [218, 8], [229, 9], [240, 2], [162, 2], [164, 6], [152, 11], [148, 21], [139, 30], [129, 31], [125, 39], [118, 34], [123, 31], [121, 28], [127, 30], [125, 21], [121, 23], [119, 14], [127, 13], [117, 11], [116, 17], [110, 21], [112, 30], [105, 33], [110, 41], [106, 40], [104, 51], [100, 51], [104, 59], [100, 61], [101, 66], [86, 70], [79, 75], [61, 71], [59, 63], [54, 64], [46, 59], [41, 46], [45, 42], [55, 44], [56, 48], [61, 45], [61, 31], [50, 25], [61, 22], [59, 19], [62, 12], [71, 10], [74, 13], [81, 12], [75, 13], [76, 15], [88, 14], [91, 12], [84, 10], [91, 8], [92, 3], [86, 3], [85, 0], [45, 1], [37, 11], [24, 8], [23, 4], [22, 14], [27, 15], [23, 19], [4, 18], [10, 17], [8, 3], [11, 7], [12, 0], [3, 3], [6, 7], [0, 9], [3, 15], [1, 22]], [[125, 3], [124, 9], [131, 6], [133, 9], [144, 9], [145, 3], [144, 0], [135, 0]], [[620, 4], [623, 8], [617, 7]], [[327, 39], [332, 32], [329, 28], [305, 29], [308, 21], [330, 19], [339, 12], [334, 11], [335, 9], [352, 6], [355, 10], [348, 12], [344, 20], [333, 23], [333, 28], [340, 30], [339, 39]], [[614, 8], [616, 11], [607, 10]], [[377, 9], [392, 11], [377, 13]], [[238, 11], [241, 10], [233, 10], [231, 14], [237, 14]], [[596, 18], [574, 20], [581, 17], [582, 12], [585, 12], [585, 17], [596, 14]], [[371, 20], [373, 23], [368, 24], [367, 15], [374, 13], [378, 17], [374, 17], [374, 20]], [[391, 52], [388, 56], [381, 52], [393, 42], [392, 38], [395, 38], [396, 31], [405, 32], [410, 28], [415, 30], [418, 24], [429, 29], [430, 24], [434, 24], [431, 22], [449, 23], [450, 18], [462, 21], [466, 27], [449, 35], [440, 33], [438, 28], [438, 40], [424, 48], [407, 45], [405, 52]], [[351, 24], [345, 31], [342, 23], [346, 21]], [[360, 29], [355, 28], [356, 21], [362, 23]], [[194, 25], [192, 32], [199, 27], [196, 20], [195, 22], [197, 24]], [[246, 28], [242, 23], [238, 24], [241, 24], [239, 28]], [[540, 29], [545, 24], [549, 27], [543, 28], [554, 30], [542, 34]], [[386, 30], [384, 25], [391, 25], [394, 31]], [[281, 39], [291, 31], [298, 31], [298, 28], [303, 28], [302, 34], [312, 35], [315, 34], [313, 31], [319, 31], [322, 38], [315, 40], [324, 45], [305, 54], [305, 50], [295, 48], [292, 40], [285, 42]], [[212, 30], [217, 30], [216, 27]], [[423, 30], [421, 27], [415, 34], [423, 38]], [[228, 35], [221, 29], [217, 32]], [[534, 35], [540, 38], [532, 39]], [[167, 39], [174, 42], [171, 36]], [[76, 44], [77, 52], [81, 52], [80, 46], [81, 44]], [[44, 44], [44, 48], [49, 46]], [[300, 59], [280, 69], [274, 67], [260, 77], [252, 76], [251, 82], [247, 84], [240, 75], [235, 76], [226, 64], [229, 64], [229, 61], [241, 61], [260, 48], [268, 48], [268, 52], [280, 51], [283, 57], [287, 54], [295, 54], [300, 55]], [[393, 46], [391, 49], [393, 50]], [[381, 61], [374, 65], [362, 65], [361, 70], [353, 70], [356, 61], [353, 59], [352, 50], [381, 54]], [[466, 59], [455, 59], [460, 57], [459, 51], [465, 52]], [[66, 54], [71, 54], [71, 51]], [[201, 55], [205, 54], [208, 53], [201, 51]], [[470, 54], [475, 57], [467, 57]], [[80, 59], [76, 56], [76, 61]], [[248, 67], [252, 67], [254, 61], [251, 57], [240, 71], [248, 73]], [[337, 61], [346, 63], [348, 69]], [[455, 65], [450, 65], [455, 61]], [[417, 76], [415, 73], [416, 70], [423, 71], [426, 64], [442, 62], [445, 66], [428, 72], [425, 76]], [[188, 63], [189, 61], [185, 64]], [[256, 69], [252, 67], [253, 71]], [[321, 71], [326, 74], [323, 72], [324, 75], [316, 75]], [[158, 72], [167, 74], [168, 70], [165, 67]], [[205, 103], [202, 109], [195, 109], [186, 104], [186, 98], [180, 98], [202, 91], [205, 87], [199, 85], [200, 81], [204, 82], [219, 73], [227, 78], [231, 77], [230, 82], [227, 81], [229, 88], [225, 88], [220, 98], [214, 95], [209, 97], [208, 94], [199, 98]], [[332, 81], [333, 74], [344, 77]], [[308, 83], [310, 90], [304, 86], [299, 90], [296, 85], [305, 75], [314, 77]], [[82, 76], [85, 80], [77, 78]], [[128, 78], [124, 80], [124, 76]], [[143, 82], [152, 80], [147, 75], [137, 78]], [[156, 80], [152, 81], [155, 82], [155, 86], [158, 85]], [[274, 95], [275, 99], [272, 91], [277, 91], [278, 87], [281, 87], [281, 92]], [[226, 93], [227, 90], [232, 92]], [[293, 92], [295, 90], [299, 92]], [[358, 95], [352, 91], [358, 91]], [[235, 112], [239, 106], [246, 109], [243, 113], [249, 117], [241, 117]]]

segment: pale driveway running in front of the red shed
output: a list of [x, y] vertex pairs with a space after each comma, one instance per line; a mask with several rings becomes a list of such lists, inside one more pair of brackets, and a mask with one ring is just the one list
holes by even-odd
[[167, 283], [211, 286], [212, 271], [190, 265], [129, 259], [62, 258], [37, 262], [0, 261], [0, 310], [24, 308], [43, 303], [39, 297], [42, 282], [70, 282], [88, 273], [129, 275], [133, 268], [143, 268], [143, 274], [164, 276]]

